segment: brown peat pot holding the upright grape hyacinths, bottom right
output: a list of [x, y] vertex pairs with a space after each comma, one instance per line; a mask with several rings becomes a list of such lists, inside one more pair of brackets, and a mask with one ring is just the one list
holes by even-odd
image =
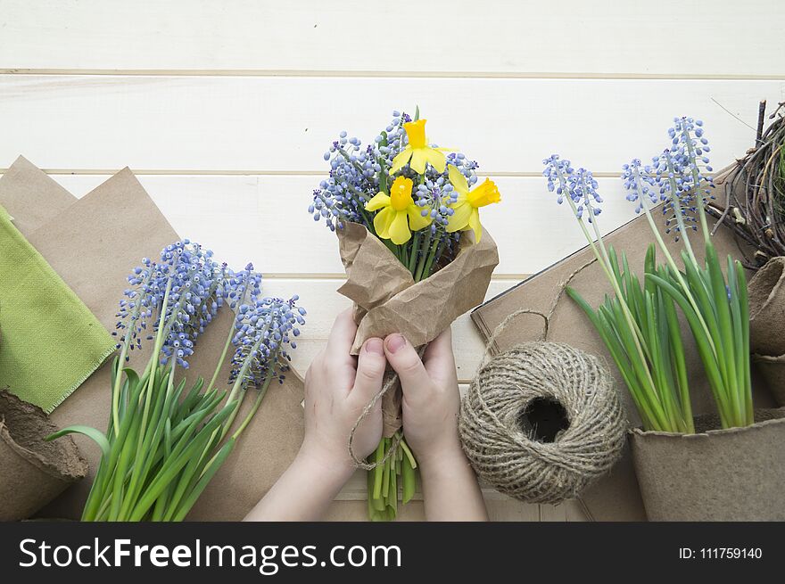
[[695, 434], [630, 431], [649, 521], [785, 520], [785, 408], [756, 410], [756, 424]]

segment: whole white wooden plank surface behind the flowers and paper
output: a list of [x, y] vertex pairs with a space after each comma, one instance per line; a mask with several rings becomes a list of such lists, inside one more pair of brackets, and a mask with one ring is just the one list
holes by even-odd
[[[497, 179], [494, 295], [582, 244], [539, 177], [549, 153], [601, 177], [605, 231], [632, 217], [620, 165], [661, 149], [673, 116], [706, 121], [715, 168], [740, 156], [758, 100], [785, 100], [783, 17], [781, 0], [0, 0], [0, 172], [22, 153], [82, 195], [130, 166], [180, 234], [302, 296], [304, 371], [347, 305], [335, 238], [305, 212], [339, 130], [369, 139], [419, 104], [434, 140]], [[483, 343], [467, 316], [453, 331], [466, 383]]]

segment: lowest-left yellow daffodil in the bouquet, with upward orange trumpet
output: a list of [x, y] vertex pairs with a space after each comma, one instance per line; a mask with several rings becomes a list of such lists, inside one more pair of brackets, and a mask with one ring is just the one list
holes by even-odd
[[366, 210], [379, 210], [374, 218], [376, 234], [396, 245], [408, 242], [411, 231], [429, 226], [433, 220], [430, 216], [423, 217], [423, 210], [414, 203], [412, 185], [411, 178], [398, 177], [393, 181], [389, 195], [378, 193], [365, 205]]

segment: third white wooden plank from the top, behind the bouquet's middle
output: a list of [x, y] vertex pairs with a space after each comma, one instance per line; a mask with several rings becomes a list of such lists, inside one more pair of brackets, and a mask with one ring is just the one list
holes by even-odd
[[[81, 196], [107, 177], [54, 175]], [[211, 247], [232, 266], [252, 261], [280, 276], [342, 276], [335, 234], [307, 212], [320, 177], [161, 176], [139, 180], [178, 234]], [[541, 177], [500, 177], [499, 205], [482, 210], [499, 246], [496, 276], [520, 279], [585, 245], [566, 205], [559, 206]], [[600, 178], [606, 202], [599, 225], [611, 231], [634, 216], [622, 181]]]

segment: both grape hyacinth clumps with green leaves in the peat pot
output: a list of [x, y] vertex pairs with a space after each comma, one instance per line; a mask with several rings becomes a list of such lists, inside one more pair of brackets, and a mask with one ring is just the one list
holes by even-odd
[[[698, 347], [723, 428], [747, 426], [753, 423], [747, 281], [740, 262], [730, 256], [725, 276], [709, 233], [705, 207], [714, 185], [706, 174], [712, 169], [703, 123], [692, 118], [673, 121], [671, 144], [651, 164], [636, 159], [623, 167], [627, 199], [636, 202], [637, 212], [644, 212], [656, 242], [647, 252], [643, 284], [624, 253], [619, 258], [602, 241], [602, 200], [591, 172], [575, 170], [555, 154], [543, 160], [549, 190], [572, 208], [615, 295], [595, 309], [573, 289], [567, 293], [591, 319], [616, 362], [644, 430], [695, 432], [679, 312]], [[655, 223], [654, 206], [660, 203], [666, 234], [682, 242], [681, 266]], [[687, 236], [698, 229], [704, 261], [698, 260]], [[657, 249], [664, 264], [657, 265]]]

